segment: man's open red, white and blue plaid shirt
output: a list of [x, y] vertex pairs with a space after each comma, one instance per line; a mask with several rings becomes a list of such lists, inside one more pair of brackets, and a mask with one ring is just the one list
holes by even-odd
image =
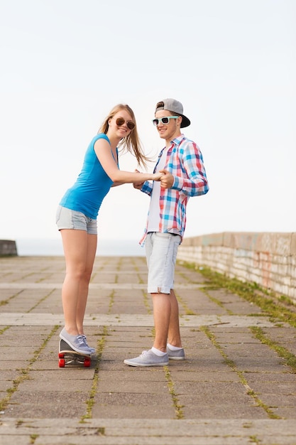
[[[153, 173], [157, 171], [163, 150], [160, 151]], [[184, 134], [173, 139], [165, 160], [165, 170], [172, 173], [174, 183], [171, 188], [160, 188], [158, 232], [177, 233], [182, 241], [186, 225], [186, 205], [190, 196], [205, 195], [209, 191], [202, 153], [197, 144], [187, 139]], [[153, 182], [143, 183], [141, 191], [151, 195]], [[147, 227], [148, 222], [140, 240], [141, 245], [145, 244]]]

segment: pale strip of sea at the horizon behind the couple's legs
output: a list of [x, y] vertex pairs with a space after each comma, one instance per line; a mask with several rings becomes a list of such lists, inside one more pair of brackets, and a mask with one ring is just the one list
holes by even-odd
[[[16, 238], [18, 256], [64, 256], [61, 239]], [[145, 248], [138, 240], [100, 240], [98, 239], [98, 257], [145, 257]]]

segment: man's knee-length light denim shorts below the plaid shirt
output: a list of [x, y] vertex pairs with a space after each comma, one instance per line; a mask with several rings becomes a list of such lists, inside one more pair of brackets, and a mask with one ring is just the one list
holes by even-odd
[[170, 289], [174, 288], [177, 248], [180, 242], [180, 235], [148, 232], [146, 259], [149, 294], [170, 294]]

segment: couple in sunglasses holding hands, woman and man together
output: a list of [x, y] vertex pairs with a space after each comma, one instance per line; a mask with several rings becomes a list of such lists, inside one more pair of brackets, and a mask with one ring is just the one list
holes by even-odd
[[87, 148], [77, 181], [60, 200], [56, 216], [66, 262], [62, 285], [65, 327], [60, 338], [78, 353], [92, 354], [95, 350], [87, 343], [83, 321], [97, 252], [99, 208], [110, 188], [123, 183], [133, 183], [134, 188], [150, 195], [147, 224], [140, 242], [146, 247], [155, 338], [150, 350], [124, 360], [126, 365], [141, 367], [185, 359], [173, 290], [175, 262], [185, 232], [188, 199], [209, 190], [202, 153], [181, 132], [190, 125], [182, 104], [174, 99], [158, 102], [153, 124], [165, 140], [153, 173], [121, 171], [121, 148], [136, 156], [138, 166], [146, 166], [149, 159], [141, 148], [133, 110], [126, 104], [111, 109]]

